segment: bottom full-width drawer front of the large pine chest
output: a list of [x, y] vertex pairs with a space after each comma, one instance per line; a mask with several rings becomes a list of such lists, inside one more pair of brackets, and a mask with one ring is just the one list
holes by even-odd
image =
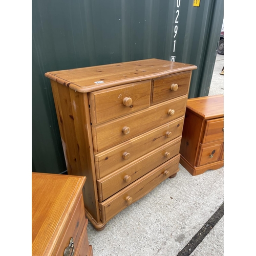
[[180, 154], [100, 203], [102, 222], [109, 221], [119, 211], [148, 194], [169, 176], [177, 173], [179, 170], [179, 160]]

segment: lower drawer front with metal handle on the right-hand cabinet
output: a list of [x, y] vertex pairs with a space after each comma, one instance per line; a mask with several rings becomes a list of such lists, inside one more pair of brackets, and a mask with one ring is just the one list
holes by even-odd
[[223, 142], [202, 145], [199, 152], [197, 166], [218, 162], [220, 159], [222, 145]]

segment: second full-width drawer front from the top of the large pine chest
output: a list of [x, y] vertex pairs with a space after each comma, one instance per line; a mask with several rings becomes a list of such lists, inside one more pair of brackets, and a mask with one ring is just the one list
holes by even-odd
[[95, 155], [97, 178], [101, 178], [114, 170], [129, 164], [155, 148], [181, 136], [183, 117], [166, 123], [156, 129], [125, 141], [110, 150]]

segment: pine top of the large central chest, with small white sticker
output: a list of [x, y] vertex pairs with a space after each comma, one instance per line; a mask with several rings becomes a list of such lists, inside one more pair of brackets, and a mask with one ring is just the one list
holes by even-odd
[[88, 93], [124, 83], [132, 83], [194, 69], [197, 69], [197, 66], [162, 59], [144, 59], [52, 71], [47, 72], [45, 76], [77, 92]]

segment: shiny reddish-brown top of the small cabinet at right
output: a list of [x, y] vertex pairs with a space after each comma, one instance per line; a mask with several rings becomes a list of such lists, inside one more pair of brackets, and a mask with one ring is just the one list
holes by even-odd
[[188, 99], [187, 109], [205, 120], [224, 117], [224, 96], [221, 94]]

